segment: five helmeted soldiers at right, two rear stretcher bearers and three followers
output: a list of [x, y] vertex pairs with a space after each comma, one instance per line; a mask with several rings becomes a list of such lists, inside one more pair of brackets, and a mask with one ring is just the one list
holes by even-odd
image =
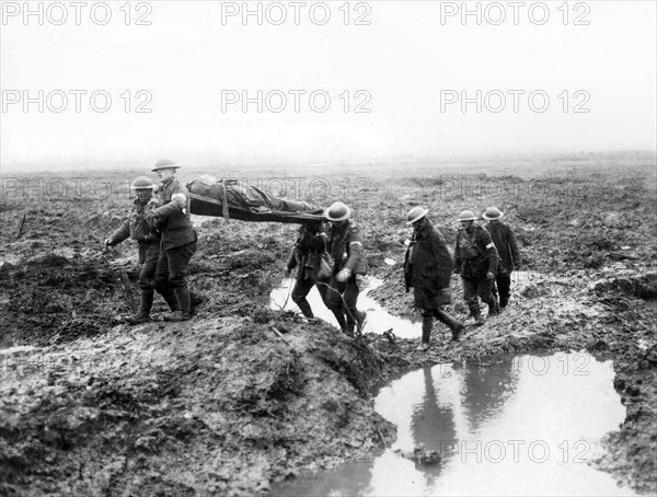
[[[458, 340], [465, 328], [442, 308], [452, 303], [450, 280], [452, 273], [461, 275], [463, 298], [475, 324], [481, 326], [479, 299], [488, 304], [488, 315], [496, 315], [506, 308], [510, 297], [511, 273], [521, 267], [518, 243], [510, 227], [500, 221], [504, 213], [489, 207], [483, 213], [488, 221], [482, 228], [476, 224], [474, 212], [465, 210], [459, 216], [461, 229], [457, 234], [453, 257], [448, 245], [427, 219], [428, 209], [414, 207], [407, 213], [407, 226], [413, 228], [407, 241], [404, 263], [406, 292], [414, 289], [415, 307], [423, 316], [422, 342], [418, 349], [430, 347], [434, 321], [446, 324]], [[354, 335], [355, 325], [361, 330], [365, 311], [356, 307], [358, 300], [357, 275], [367, 271], [362, 252], [360, 229], [349, 219], [350, 210], [343, 203], [333, 204], [325, 212], [331, 222], [324, 232], [322, 223], [302, 226], [292, 254], [288, 261], [288, 274], [296, 268], [292, 301], [306, 317], [313, 319], [306, 299], [316, 285], [324, 304], [333, 312], [343, 332]], [[327, 278], [321, 277], [321, 258], [328, 252], [334, 264]]]

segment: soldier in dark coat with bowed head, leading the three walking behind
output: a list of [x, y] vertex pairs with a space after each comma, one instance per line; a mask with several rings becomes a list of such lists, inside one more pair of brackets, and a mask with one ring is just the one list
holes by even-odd
[[434, 319], [449, 326], [452, 340], [458, 340], [465, 327], [440, 309], [451, 303], [449, 284], [453, 261], [442, 234], [426, 218], [428, 212], [423, 207], [408, 211], [406, 224], [413, 227], [413, 238], [404, 264], [406, 292], [413, 287], [415, 307], [422, 312], [422, 343], [418, 347], [422, 350], [429, 348]]

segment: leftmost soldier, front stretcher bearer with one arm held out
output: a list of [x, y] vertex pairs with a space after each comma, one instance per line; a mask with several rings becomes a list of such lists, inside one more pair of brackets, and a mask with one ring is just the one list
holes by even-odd
[[[153, 182], [150, 177], [140, 176], [132, 182], [130, 189], [137, 194], [137, 199], [132, 204], [132, 210], [128, 218], [112, 235], [105, 240], [105, 246], [118, 245], [124, 240], [130, 238], [139, 245], [139, 289], [141, 290], [141, 303], [139, 312], [126, 317], [130, 324], [146, 323], [150, 321], [150, 310], [153, 305], [153, 279], [160, 255], [160, 235], [153, 233], [145, 223], [145, 215], [148, 210], [154, 208], [151, 201], [153, 195]], [[170, 304], [175, 300], [172, 292], [162, 293], [164, 300]]]

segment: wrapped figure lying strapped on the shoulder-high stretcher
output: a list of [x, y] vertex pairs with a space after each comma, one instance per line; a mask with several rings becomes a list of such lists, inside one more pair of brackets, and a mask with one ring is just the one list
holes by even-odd
[[228, 217], [256, 222], [325, 221], [321, 207], [288, 200], [237, 180], [215, 180], [203, 174], [187, 185], [189, 211], [198, 216]]

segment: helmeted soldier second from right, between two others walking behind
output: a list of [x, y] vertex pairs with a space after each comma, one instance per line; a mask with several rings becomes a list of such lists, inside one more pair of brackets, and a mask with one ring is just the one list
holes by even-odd
[[484, 324], [479, 297], [488, 304], [488, 316], [498, 314], [499, 307], [491, 292], [491, 285], [497, 274], [497, 250], [491, 235], [474, 223], [476, 216], [471, 210], [459, 215], [461, 229], [457, 233], [454, 248], [456, 271], [461, 274], [463, 298], [470, 313], [479, 326]]

